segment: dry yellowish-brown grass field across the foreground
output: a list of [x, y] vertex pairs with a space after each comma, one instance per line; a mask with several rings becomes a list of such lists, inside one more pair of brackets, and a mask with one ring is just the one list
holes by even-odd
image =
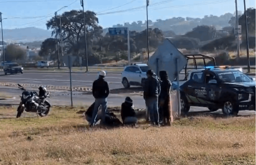
[[89, 128], [77, 111], [53, 107], [46, 117], [1, 107], [0, 164], [255, 164], [255, 116], [176, 120], [172, 126]]

